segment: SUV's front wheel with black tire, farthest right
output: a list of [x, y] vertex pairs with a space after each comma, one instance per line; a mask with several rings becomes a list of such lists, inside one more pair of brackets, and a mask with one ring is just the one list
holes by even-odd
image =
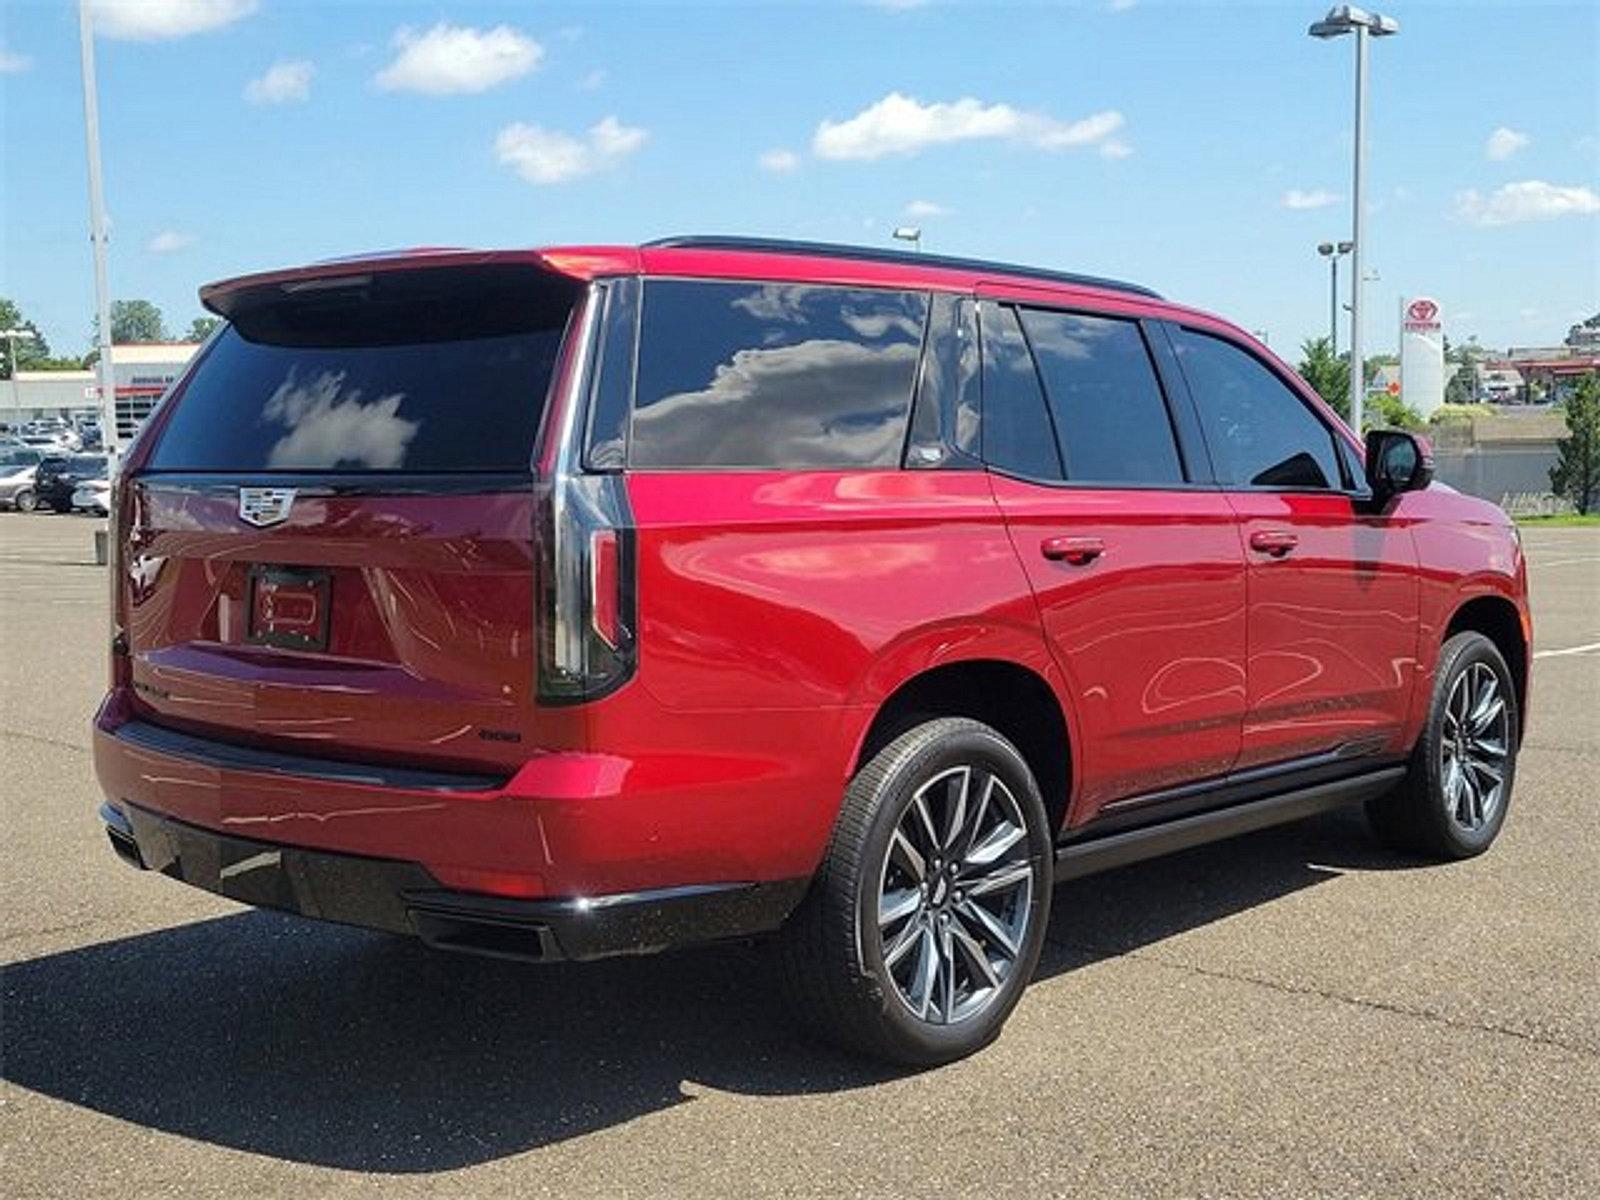
[[[1467, 715], [1472, 720], [1466, 723], [1451, 709], [1453, 702], [1459, 706], [1462, 696], [1470, 701], [1490, 677], [1504, 707], [1502, 715], [1490, 722], [1493, 728], [1486, 728], [1486, 733], [1491, 736], [1485, 744], [1501, 744], [1504, 754], [1499, 758], [1470, 750], [1478, 744], [1472, 728], [1482, 715], [1475, 706], [1469, 704]], [[1411, 766], [1392, 792], [1366, 805], [1373, 832], [1397, 850], [1446, 861], [1474, 858], [1488, 850], [1510, 811], [1520, 717], [1517, 686], [1499, 648], [1474, 632], [1456, 634], [1445, 642], [1434, 672], [1427, 722], [1411, 752]], [[1470, 766], [1453, 771], [1453, 763], [1458, 762], [1469, 762]], [[1493, 787], [1496, 770], [1501, 776], [1498, 790]], [[1464, 776], [1464, 781], [1458, 782], [1456, 774]], [[1483, 811], [1490, 798], [1491, 811]]]

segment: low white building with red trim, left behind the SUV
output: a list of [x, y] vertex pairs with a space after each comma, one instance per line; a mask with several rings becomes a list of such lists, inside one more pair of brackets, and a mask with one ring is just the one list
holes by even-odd
[[[131, 438], [184, 366], [197, 342], [136, 342], [110, 347], [117, 386], [117, 438]], [[99, 414], [94, 371], [18, 371], [0, 381], [0, 424], [19, 426], [40, 418]]]

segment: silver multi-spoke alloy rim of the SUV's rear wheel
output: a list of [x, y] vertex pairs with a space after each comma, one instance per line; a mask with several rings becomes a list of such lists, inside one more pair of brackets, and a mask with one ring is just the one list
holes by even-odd
[[890, 837], [877, 930], [899, 1002], [957, 1024], [1000, 995], [1034, 912], [1035, 864], [1022, 806], [978, 765], [922, 784]]

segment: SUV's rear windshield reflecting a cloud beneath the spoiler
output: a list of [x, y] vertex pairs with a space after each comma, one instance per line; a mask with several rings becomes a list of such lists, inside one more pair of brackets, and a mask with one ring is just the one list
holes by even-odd
[[149, 466], [525, 472], [573, 298], [528, 269], [246, 296]]

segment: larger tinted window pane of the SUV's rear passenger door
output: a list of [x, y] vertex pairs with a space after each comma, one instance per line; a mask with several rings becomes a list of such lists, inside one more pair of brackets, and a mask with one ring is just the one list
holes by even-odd
[[1144, 334], [1131, 320], [1022, 309], [1069, 480], [1182, 483]]

